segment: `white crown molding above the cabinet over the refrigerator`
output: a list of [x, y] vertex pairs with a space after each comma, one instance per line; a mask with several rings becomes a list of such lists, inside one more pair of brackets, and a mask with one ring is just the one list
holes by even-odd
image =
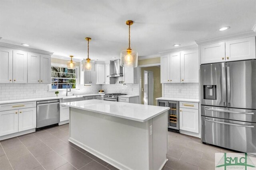
[[207, 44], [207, 43], [212, 43], [212, 42], [216, 42], [216, 41], [226, 41], [228, 39], [236, 39], [236, 38], [249, 37], [249, 36], [255, 36], [255, 35], [256, 35], [256, 26], [254, 25], [252, 30], [249, 30], [249, 31], [243, 31], [243, 32], [234, 33], [234, 34], [230, 34], [230, 35], [224, 35], [224, 36], [220, 36], [220, 37], [212, 37], [212, 38], [208, 38], [208, 39], [198, 39], [195, 42], [198, 45], [201, 45], [201, 44]]

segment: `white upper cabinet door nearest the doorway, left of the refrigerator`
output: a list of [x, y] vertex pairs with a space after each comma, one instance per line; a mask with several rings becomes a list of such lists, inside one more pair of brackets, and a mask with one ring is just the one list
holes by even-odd
[[170, 82], [170, 55], [164, 55], [160, 61], [161, 83]]

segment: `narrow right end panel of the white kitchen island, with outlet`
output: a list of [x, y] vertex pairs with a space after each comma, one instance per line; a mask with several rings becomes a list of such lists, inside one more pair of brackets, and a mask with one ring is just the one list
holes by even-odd
[[153, 118], [153, 169], [161, 170], [167, 161], [168, 112]]

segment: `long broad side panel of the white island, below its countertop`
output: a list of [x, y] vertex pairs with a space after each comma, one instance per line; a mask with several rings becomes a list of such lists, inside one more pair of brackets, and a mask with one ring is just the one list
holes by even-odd
[[69, 140], [117, 168], [149, 169], [148, 121], [70, 108]]

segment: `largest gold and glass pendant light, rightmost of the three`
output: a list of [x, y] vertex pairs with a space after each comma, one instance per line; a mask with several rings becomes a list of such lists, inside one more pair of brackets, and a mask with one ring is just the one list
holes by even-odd
[[120, 66], [122, 67], [137, 67], [138, 66], [138, 52], [134, 51], [130, 47], [130, 26], [133, 21], [126, 21], [126, 25], [129, 25], [129, 48], [121, 51]]

